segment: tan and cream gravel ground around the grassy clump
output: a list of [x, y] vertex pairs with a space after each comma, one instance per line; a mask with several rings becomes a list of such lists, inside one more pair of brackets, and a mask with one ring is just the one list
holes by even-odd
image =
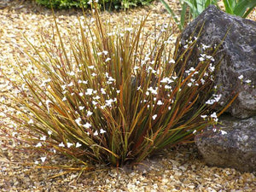
[[[169, 4], [176, 7], [175, 1]], [[148, 30], [152, 29], [154, 22], [162, 23], [167, 19], [168, 14], [160, 3], [102, 16], [111, 18], [115, 25], [149, 11], [152, 13], [148, 18]], [[77, 15], [81, 15], [74, 9], [55, 14], [64, 34], [71, 32], [72, 26], [78, 24]], [[250, 18], [256, 20], [255, 9]], [[36, 6], [30, 0], [1, 0], [0, 23], [0, 67], [7, 73], [14, 73], [8, 63], [15, 62], [15, 56], [26, 60], [19, 49], [20, 45], [26, 47], [22, 35], [39, 44], [37, 37], [50, 31], [52, 16], [48, 9]], [[8, 91], [8, 84], [0, 73], [0, 97]], [[1, 122], [3, 113], [0, 113], [0, 119]], [[2, 131], [9, 132], [4, 127]], [[256, 191], [255, 172], [206, 166], [193, 144], [165, 150], [137, 166], [99, 166], [94, 172], [67, 172], [65, 169], [38, 169], [26, 165], [24, 162], [34, 161], [38, 155], [21, 150], [21, 144], [0, 133], [0, 191]], [[57, 154], [51, 159], [60, 164], [74, 163]]]

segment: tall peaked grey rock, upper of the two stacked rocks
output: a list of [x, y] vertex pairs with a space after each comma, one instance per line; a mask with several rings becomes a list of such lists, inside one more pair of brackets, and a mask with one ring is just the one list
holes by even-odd
[[[220, 103], [227, 102], [230, 93], [235, 90], [240, 93], [228, 109], [229, 112], [240, 119], [256, 115], [256, 22], [228, 15], [211, 5], [183, 31], [178, 39], [182, 45], [180, 53], [185, 49], [191, 34], [195, 32], [193, 36], [196, 37], [201, 26], [202, 32], [198, 38], [200, 46], [192, 53], [197, 60], [201, 57], [202, 47], [214, 47], [224, 39], [213, 62], [216, 65], [223, 57], [216, 71], [215, 82], [223, 95]], [[195, 67], [192, 63], [189, 62], [187, 68]]]

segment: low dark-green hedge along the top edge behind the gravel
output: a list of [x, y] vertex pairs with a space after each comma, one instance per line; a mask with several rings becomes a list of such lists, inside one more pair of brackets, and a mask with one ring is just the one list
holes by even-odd
[[[139, 5], [146, 5], [153, 0], [96, 0], [96, 3], [103, 9], [129, 9]], [[54, 9], [70, 9], [70, 8], [88, 8], [93, 2], [92, 0], [36, 0], [37, 3], [53, 7]]]

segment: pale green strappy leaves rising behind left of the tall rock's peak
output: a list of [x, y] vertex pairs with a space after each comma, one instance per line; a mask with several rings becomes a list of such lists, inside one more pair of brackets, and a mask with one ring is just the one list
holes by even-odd
[[[182, 7], [180, 16], [175, 15], [172, 8], [166, 3], [165, 0], [160, 0], [161, 3], [164, 4], [166, 10], [172, 15], [172, 18], [177, 23], [177, 26], [182, 31], [183, 27], [189, 22], [191, 19], [195, 19], [204, 9], [210, 4], [217, 5], [218, 0], [180, 0], [179, 3]], [[187, 8], [189, 7], [189, 15], [186, 17]], [[179, 18], [179, 20], [178, 20]]]

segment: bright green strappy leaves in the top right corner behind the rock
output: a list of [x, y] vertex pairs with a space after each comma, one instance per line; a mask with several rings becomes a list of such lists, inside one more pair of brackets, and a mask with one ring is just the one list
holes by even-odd
[[246, 18], [256, 6], [254, 0], [224, 0], [225, 12]]

